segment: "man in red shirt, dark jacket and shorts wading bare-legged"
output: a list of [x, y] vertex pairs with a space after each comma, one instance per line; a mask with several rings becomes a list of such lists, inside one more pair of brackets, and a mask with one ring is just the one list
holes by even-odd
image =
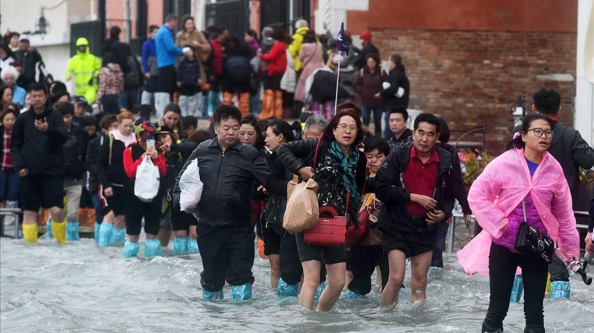
[[435, 146], [440, 122], [432, 114], [415, 119], [414, 145], [386, 158], [375, 177], [375, 194], [384, 203], [378, 221], [390, 277], [381, 294], [382, 308], [398, 302], [398, 290], [410, 257], [410, 303], [426, 298], [427, 272], [438, 223], [451, 217], [454, 185], [451, 153]]

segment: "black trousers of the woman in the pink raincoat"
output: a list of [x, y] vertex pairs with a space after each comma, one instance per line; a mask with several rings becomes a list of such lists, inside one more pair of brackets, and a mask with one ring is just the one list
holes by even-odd
[[503, 319], [510, 307], [511, 287], [516, 268], [522, 268], [524, 283], [524, 316], [526, 326], [544, 331], [542, 300], [545, 297], [548, 264], [534, 254], [517, 254], [491, 244], [489, 254], [489, 309], [484, 324], [491, 329], [503, 328]]

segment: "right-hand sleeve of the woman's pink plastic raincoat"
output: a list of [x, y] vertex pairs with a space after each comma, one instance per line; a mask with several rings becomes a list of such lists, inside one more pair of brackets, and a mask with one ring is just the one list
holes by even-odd
[[580, 235], [577, 233], [576, 216], [571, 209], [571, 193], [569, 185], [563, 177], [563, 170], [558, 168], [561, 177], [556, 188], [559, 190], [554, 194], [551, 201], [551, 212], [559, 223], [559, 231], [557, 234], [557, 242], [561, 251], [567, 255], [568, 258], [580, 257]]

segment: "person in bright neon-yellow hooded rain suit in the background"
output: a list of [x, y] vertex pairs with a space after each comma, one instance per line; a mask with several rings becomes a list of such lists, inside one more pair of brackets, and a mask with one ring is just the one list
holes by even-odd
[[66, 68], [66, 81], [74, 75], [76, 95], [83, 96], [89, 104], [94, 103], [97, 95], [97, 78], [101, 61], [91, 55], [89, 41], [81, 37], [76, 41], [77, 55], [68, 60]]

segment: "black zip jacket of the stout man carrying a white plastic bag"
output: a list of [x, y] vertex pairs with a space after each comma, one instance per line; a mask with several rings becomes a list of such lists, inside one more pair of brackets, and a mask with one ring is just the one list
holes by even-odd
[[198, 160], [200, 180], [204, 183], [198, 203], [198, 224], [208, 226], [250, 226], [253, 184], [268, 185], [270, 166], [257, 149], [241, 141], [223, 152], [219, 139], [206, 140], [189, 156], [175, 180], [173, 198], [179, 205], [179, 179], [194, 160]]

